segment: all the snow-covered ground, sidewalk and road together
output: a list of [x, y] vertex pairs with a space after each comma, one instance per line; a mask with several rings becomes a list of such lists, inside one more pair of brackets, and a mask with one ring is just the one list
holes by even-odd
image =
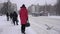
[[[29, 22], [31, 26], [26, 28], [26, 34], [60, 34], [60, 19], [29, 15]], [[20, 20], [19, 25], [14, 26], [6, 16], [0, 16], [0, 34], [21, 34]]]

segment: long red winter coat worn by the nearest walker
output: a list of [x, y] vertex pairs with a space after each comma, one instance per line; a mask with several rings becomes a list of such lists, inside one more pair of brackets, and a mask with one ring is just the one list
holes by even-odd
[[20, 9], [20, 20], [21, 24], [26, 24], [28, 19], [28, 11], [25, 7]]

